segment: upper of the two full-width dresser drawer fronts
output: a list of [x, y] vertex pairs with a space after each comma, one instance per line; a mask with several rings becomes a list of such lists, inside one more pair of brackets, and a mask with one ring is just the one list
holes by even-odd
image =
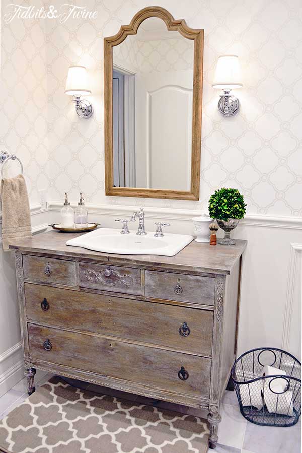
[[213, 312], [25, 284], [27, 319], [211, 356]]

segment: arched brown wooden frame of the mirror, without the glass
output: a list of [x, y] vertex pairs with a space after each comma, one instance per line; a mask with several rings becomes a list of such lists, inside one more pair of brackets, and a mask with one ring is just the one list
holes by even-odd
[[[134, 187], [113, 187], [113, 118], [112, 118], [112, 47], [123, 42], [128, 35], [135, 35], [139, 25], [149, 17], [162, 19], [169, 31], [179, 31], [185, 38], [194, 40], [193, 68], [193, 121], [191, 189], [161, 190]], [[203, 30], [189, 28], [184, 20], [174, 20], [164, 8], [148, 7], [135, 14], [129, 25], [122, 25], [119, 32], [104, 38], [104, 109], [105, 109], [105, 191], [106, 195], [122, 197], [166, 198], [199, 200], [201, 113], [202, 113]], [[177, 171], [177, 168], [174, 169]]]

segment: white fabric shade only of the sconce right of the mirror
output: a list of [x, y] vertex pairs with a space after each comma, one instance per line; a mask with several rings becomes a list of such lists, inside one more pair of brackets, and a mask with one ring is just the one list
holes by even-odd
[[212, 87], [220, 90], [242, 87], [241, 68], [237, 55], [219, 56]]

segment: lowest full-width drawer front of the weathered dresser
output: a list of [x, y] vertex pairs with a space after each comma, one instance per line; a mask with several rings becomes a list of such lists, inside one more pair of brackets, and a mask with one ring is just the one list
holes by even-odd
[[32, 324], [28, 329], [33, 364], [43, 360], [170, 392], [209, 397], [209, 358]]

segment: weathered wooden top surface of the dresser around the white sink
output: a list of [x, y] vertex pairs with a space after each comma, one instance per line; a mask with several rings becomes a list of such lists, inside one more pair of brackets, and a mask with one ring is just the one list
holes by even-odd
[[237, 240], [236, 245], [232, 246], [219, 244], [211, 246], [209, 243], [193, 241], [175, 256], [121, 255], [66, 245], [67, 240], [80, 235], [79, 233], [67, 235], [57, 231], [49, 231], [36, 234], [30, 238], [15, 240], [10, 248], [22, 252], [57, 255], [66, 258], [91, 258], [94, 261], [106, 263], [154, 265], [170, 269], [191, 269], [194, 272], [230, 274], [247, 244], [245, 240]]

